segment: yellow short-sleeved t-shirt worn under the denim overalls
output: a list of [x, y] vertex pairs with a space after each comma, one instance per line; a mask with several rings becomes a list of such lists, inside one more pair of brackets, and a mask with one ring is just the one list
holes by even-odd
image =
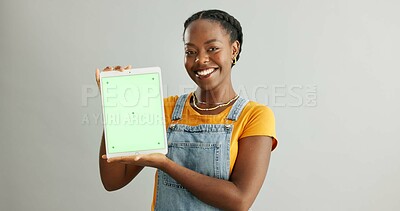
[[[195, 126], [199, 124], [223, 124], [225, 118], [228, 116], [232, 105], [227, 107], [224, 111], [217, 115], [201, 115], [194, 110], [190, 105], [190, 98], [192, 94], [189, 94], [188, 99], [185, 102], [185, 107], [182, 112], [182, 118], [179, 120], [179, 124], [185, 124]], [[178, 96], [170, 96], [164, 99], [164, 111], [165, 111], [165, 122], [166, 126], [171, 124], [171, 117], [174, 111]], [[230, 145], [230, 172], [232, 172], [233, 166], [236, 162], [238, 154], [238, 143], [240, 139], [248, 136], [270, 136], [272, 137], [272, 150], [274, 150], [278, 144], [275, 133], [275, 117], [274, 113], [270, 108], [263, 104], [250, 101], [243, 109], [237, 121], [233, 123], [233, 131], [231, 136]], [[157, 192], [157, 174], [154, 184], [154, 196], [152, 210], [155, 205], [155, 197]]]

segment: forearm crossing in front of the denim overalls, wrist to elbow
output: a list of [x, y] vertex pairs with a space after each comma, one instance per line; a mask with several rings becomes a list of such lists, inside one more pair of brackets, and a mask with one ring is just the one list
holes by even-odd
[[160, 168], [199, 200], [223, 210], [247, 210], [240, 189], [231, 181], [209, 177], [167, 159]]

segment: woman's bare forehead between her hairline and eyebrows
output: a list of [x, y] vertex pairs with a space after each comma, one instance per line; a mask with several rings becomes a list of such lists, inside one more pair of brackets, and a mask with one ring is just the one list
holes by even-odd
[[189, 24], [184, 34], [185, 42], [207, 41], [210, 39], [229, 40], [229, 34], [219, 22], [207, 19], [193, 21]]

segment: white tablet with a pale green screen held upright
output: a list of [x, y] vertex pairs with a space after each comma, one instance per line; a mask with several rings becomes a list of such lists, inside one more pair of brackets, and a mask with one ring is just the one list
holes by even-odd
[[159, 67], [101, 72], [100, 90], [108, 158], [167, 154]]

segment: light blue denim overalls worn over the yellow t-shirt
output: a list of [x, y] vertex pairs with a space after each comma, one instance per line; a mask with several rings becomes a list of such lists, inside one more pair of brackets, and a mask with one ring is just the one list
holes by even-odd
[[[229, 179], [230, 142], [233, 122], [248, 100], [239, 97], [225, 122], [189, 126], [178, 124], [188, 94], [178, 98], [167, 129], [168, 154], [171, 160], [186, 168], [218, 179]], [[158, 170], [155, 210], [218, 210], [198, 200], [168, 174]]]

